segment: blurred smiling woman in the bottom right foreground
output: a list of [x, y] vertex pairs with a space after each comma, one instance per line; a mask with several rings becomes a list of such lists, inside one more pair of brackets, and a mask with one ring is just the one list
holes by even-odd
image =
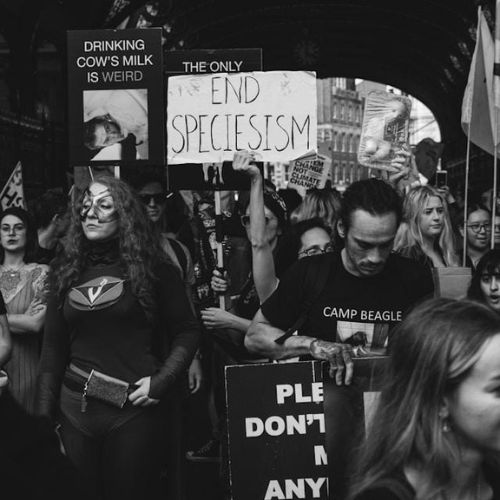
[[350, 499], [500, 498], [500, 317], [433, 299], [393, 334]]

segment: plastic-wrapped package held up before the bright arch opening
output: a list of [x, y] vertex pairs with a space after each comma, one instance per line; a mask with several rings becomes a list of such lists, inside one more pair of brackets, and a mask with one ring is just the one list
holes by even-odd
[[408, 97], [374, 90], [368, 94], [359, 142], [360, 165], [388, 172], [401, 151], [409, 152], [411, 101]]

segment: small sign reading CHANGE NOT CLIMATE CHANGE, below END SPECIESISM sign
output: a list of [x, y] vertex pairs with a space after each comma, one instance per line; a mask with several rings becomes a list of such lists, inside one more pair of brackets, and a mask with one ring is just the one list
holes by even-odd
[[307, 189], [323, 189], [332, 168], [330, 158], [317, 153], [308, 153], [291, 162], [289, 188], [304, 193]]

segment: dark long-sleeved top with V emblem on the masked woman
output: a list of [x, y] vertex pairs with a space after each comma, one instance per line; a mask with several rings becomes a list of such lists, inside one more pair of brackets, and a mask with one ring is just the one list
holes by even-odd
[[62, 308], [57, 297], [49, 297], [39, 368], [40, 414], [54, 411], [56, 384], [69, 362], [129, 383], [151, 376], [153, 398], [163, 396], [184, 373], [198, 347], [199, 325], [177, 269], [162, 264], [155, 275], [155, 325], [117, 263], [87, 267]]

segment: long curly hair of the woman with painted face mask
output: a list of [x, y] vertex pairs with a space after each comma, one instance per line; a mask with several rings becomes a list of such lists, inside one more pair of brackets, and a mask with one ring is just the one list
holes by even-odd
[[[106, 186], [113, 197], [119, 221], [119, 263], [130, 280], [132, 293], [147, 318], [154, 322], [158, 312], [154, 298], [155, 273], [157, 265], [166, 261], [159, 240], [151, 231], [143, 204], [128, 184], [111, 176], [96, 177], [94, 183]], [[51, 266], [50, 285], [61, 307], [66, 292], [84, 271], [91, 247], [80, 220], [82, 201], [83, 196], [73, 208], [68, 232]]]

